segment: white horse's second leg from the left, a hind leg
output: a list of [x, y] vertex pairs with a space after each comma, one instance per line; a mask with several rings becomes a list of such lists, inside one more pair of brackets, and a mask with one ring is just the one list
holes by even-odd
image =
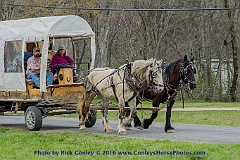
[[109, 125], [108, 121], [108, 107], [109, 107], [109, 99], [103, 99], [103, 107], [102, 107], [102, 123], [104, 126], [104, 130], [107, 133], [113, 132], [112, 127]]

